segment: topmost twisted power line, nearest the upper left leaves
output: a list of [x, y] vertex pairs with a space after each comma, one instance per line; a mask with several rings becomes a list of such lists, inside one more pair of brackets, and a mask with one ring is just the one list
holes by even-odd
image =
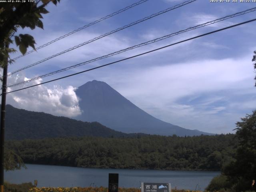
[[124, 12], [124, 11], [126, 11], [126, 10], [128, 10], [128, 9], [130, 9], [130, 8], [133, 8], [133, 7], [135, 7], [135, 6], [139, 5], [139, 4], [142, 4], [142, 3], [146, 2], [146, 1], [148, 1], [148, 0], [141, 0], [141, 1], [136, 2], [136, 3], [134, 3], [134, 4], [130, 5], [130, 6], [125, 7], [125, 8], [123, 8], [123, 9], [120, 9], [120, 10], [118, 10], [118, 11], [112, 13], [112, 14], [109, 14], [109, 15], [107, 15], [107, 16], [105, 16], [105, 17], [100, 18], [99, 20], [96, 20], [96, 21], [94, 21], [94, 22], [91, 22], [91, 23], [89, 23], [89, 24], [87, 24], [87, 25], [85, 25], [85, 26], [83, 26], [83, 27], [80, 27], [80, 28], [78, 28], [78, 29], [76, 29], [76, 30], [74, 30], [74, 31], [72, 31], [72, 32], [67, 33], [67, 34], [64, 34], [63, 36], [60, 36], [60, 37], [58, 37], [58, 38], [56, 38], [56, 39], [54, 39], [54, 40], [52, 40], [52, 41], [50, 41], [50, 42], [47, 42], [46, 44], [43, 44], [43, 45], [37, 47], [35, 50], [33, 49], [33, 50], [29, 51], [29, 52], [26, 52], [26, 54], [20, 55], [20, 56], [14, 58], [14, 59], [12, 59], [12, 60], [17, 60], [18, 58], [21, 58], [22, 56], [25, 56], [25, 55], [27, 55], [27, 54], [30, 54], [30, 53], [32, 53], [32, 52], [34, 52], [34, 51], [36, 51], [36, 50], [38, 50], [38, 49], [41, 49], [41, 48], [43, 48], [43, 47], [46, 47], [46, 46], [48, 46], [48, 45], [50, 45], [50, 44], [52, 44], [52, 43], [54, 43], [54, 42], [56, 42], [56, 41], [58, 41], [58, 40], [61, 40], [61, 39], [65, 38], [65, 37], [67, 37], [67, 36], [70, 36], [70, 35], [72, 35], [72, 34], [78, 32], [78, 31], [80, 31], [80, 30], [83, 30], [83, 29], [85, 29], [85, 28], [87, 28], [87, 27], [89, 27], [89, 26], [92, 26], [92, 25], [94, 25], [94, 24], [96, 24], [96, 23], [98, 23], [98, 22], [101, 22], [101, 21], [103, 21], [103, 20], [105, 20], [105, 19], [108, 19], [108, 18], [110, 18], [110, 17], [112, 17], [112, 16], [115, 16], [115, 15], [117, 15], [117, 14], [119, 14], [119, 13], [122, 13], [122, 12]]

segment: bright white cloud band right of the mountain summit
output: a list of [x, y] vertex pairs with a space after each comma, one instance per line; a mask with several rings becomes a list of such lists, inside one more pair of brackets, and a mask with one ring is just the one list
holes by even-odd
[[125, 93], [128, 96], [136, 93], [162, 99], [166, 97], [165, 100], [175, 101], [182, 96], [202, 92], [245, 88], [250, 86], [246, 84], [247, 80], [253, 79], [254, 76], [251, 66], [244, 66], [248, 61], [250, 57], [242, 60], [198, 60], [154, 66], [137, 73], [133, 71], [133, 74], [130, 74], [133, 78], [129, 78], [128, 82], [140, 84], [131, 83]]

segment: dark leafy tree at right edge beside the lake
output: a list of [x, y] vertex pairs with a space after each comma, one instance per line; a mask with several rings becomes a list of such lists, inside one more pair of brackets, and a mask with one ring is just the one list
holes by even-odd
[[251, 190], [252, 180], [256, 179], [256, 110], [241, 118], [236, 126], [238, 148], [234, 161], [224, 168], [223, 174], [228, 176], [234, 190]]

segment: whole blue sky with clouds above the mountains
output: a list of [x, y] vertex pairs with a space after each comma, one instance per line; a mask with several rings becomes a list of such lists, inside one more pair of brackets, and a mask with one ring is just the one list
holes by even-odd
[[[20, 32], [32, 34], [40, 46], [134, 2], [136, 0], [62, 0], [57, 6], [47, 7], [50, 13], [44, 15], [44, 30], [37, 28], [33, 31], [25, 29]], [[16, 60], [8, 72], [181, 2], [184, 1], [148, 0]], [[208, 0], [197, 0], [14, 74], [8, 79], [8, 83], [84, 62], [255, 6], [256, 3], [210, 3]], [[30, 84], [133, 56], [254, 19], [255, 16], [255, 12], [252, 12], [228, 19]], [[112, 66], [14, 92], [8, 94], [7, 102], [18, 108], [72, 118], [81, 113], [79, 98], [76, 97], [74, 88], [95, 79], [108, 83], [138, 107], [166, 122], [205, 132], [234, 132], [232, 130], [236, 128], [235, 123], [256, 108], [255, 73], [251, 62], [253, 51], [256, 50], [255, 30], [255, 22], [231, 28]], [[19, 54], [16, 53], [12, 57]]]

